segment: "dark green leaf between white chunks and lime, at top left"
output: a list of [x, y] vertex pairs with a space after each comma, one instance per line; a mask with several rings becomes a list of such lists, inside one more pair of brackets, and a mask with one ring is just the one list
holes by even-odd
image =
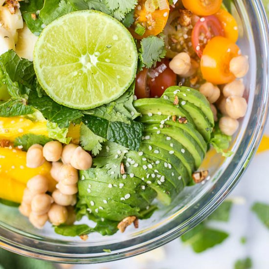
[[[38, 11], [43, 8], [43, 5], [44, 0], [21, 1], [20, 3], [22, 18], [30, 31], [36, 36], [39, 36], [43, 30], [43, 22], [38, 14]], [[36, 19], [32, 18], [32, 14], [35, 14]]]

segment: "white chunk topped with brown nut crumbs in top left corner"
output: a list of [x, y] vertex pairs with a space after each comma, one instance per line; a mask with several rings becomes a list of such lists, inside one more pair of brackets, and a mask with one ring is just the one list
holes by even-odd
[[22, 13], [20, 9], [16, 9], [15, 14], [11, 14], [7, 6], [0, 8], [1, 21], [8, 30], [15, 31], [23, 28]]

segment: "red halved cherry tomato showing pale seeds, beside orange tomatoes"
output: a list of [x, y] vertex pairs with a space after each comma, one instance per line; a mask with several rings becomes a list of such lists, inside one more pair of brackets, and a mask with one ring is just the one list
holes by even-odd
[[224, 36], [222, 24], [214, 15], [202, 17], [196, 22], [192, 30], [192, 45], [200, 58], [205, 45], [214, 36]]

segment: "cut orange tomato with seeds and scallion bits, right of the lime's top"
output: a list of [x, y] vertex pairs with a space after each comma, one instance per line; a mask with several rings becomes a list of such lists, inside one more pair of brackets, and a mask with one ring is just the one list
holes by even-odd
[[[129, 28], [134, 38], [142, 39], [151, 35], [157, 36], [162, 32], [169, 16], [169, 2], [168, 0], [164, 1], [167, 9], [160, 10], [157, 8], [154, 10], [153, 8], [153, 10], [151, 10], [145, 7], [146, 0], [138, 0], [134, 10], [134, 23], [131, 28]], [[135, 27], [138, 23], [145, 28], [143, 35], [135, 33]]]

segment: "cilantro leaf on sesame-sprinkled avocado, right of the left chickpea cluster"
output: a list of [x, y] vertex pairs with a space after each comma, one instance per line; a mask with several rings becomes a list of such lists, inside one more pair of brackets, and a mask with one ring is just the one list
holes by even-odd
[[98, 156], [93, 158], [93, 164], [96, 168], [106, 168], [112, 179], [117, 179], [120, 176], [122, 159], [127, 152], [127, 148], [107, 141]]

